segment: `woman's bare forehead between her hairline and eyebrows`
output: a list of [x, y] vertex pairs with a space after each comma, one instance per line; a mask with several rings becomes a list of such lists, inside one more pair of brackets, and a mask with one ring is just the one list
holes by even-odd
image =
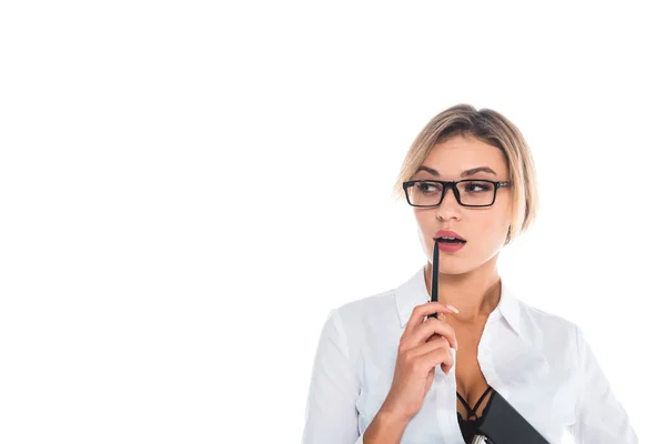
[[490, 167], [500, 176], [508, 173], [504, 152], [474, 138], [456, 137], [437, 143], [423, 164], [437, 170], [443, 176], [457, 176], [462, 171], [477, 167]]

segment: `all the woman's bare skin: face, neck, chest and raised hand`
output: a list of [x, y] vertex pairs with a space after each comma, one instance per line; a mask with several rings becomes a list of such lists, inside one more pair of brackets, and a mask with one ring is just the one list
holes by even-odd
[[[412, 179], [508, 180], [504, 153], [470, 137], [456, 137], [436, 144], [423, 167], [426, 171], [418, 171]], [[464, 171], [480, 167], [487, 167], [494, 173], [477, 171], [463, 176]], [[498, 189], [492, 206], [468, 208], [460, 205], [448, 189], [438, 206], [413, 210], [421, 245], [428, 258], [425, 270], [428, 291], [435, 233], [452, 230], [467, 243], [455, 253], [440, 251], [440, 302], [418, 305], [412, 312], [401, 337], [391, 391], [366, 431], [366, 443], [400, 442], [406, 424], [421, 408], [423, 397], [432, 385], [434, 367], [440, 365], [446, 373], [452, 369], [451, 346], [457, 347], [457, 392], [474, 405], [487, 387], [477, 361], [478, 342], [488, 315], [500, 302], [497, 258], [511, 222], [511, 190]], [[438, 313], [438, 319], [424, 322], [424, 315], [430, 313]], [[478, 414], [487, 400], [478, 407]], [[467, 418], [460, 401], [458, 412]]]

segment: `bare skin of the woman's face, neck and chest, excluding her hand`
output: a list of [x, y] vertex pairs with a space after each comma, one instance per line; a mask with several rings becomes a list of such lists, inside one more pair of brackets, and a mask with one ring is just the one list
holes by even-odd
[[[413, 179], [445, 181], [461, 179], [507, 181], [509, 179], [504, 153], [498, 148], [474, 138], [457, 137], [435, 145], [423, 165], [435, 170], [438, 174], [434, 174], [433, 171], [420, 171]], [[478, 167], [488, 167], [495, 174], [482, 171], [468, 176], [462, 175], [463, 171]], [[458, 342], [456, 353], [458, 393], [474, 405], [487, 387], [476, 356], [485, 323], [500, 302], [501, 280], [497, 259], [511, 223], [511, 189], [498, 189], [495, 203], [487, 208], [462, 206], [450, 189], [440, 206], [413, 209], [421, 245], [428, 258], [425, 272], [428, 291], [435, 233], [438, 230], [452, 230], [467, 241], [457, 252], [440, 251], [438, 294], [440, 301], [460, 311], [455, 315], [443, 314], [440, 317], [453, 327]], [[483, 412], [485, 404], [484, 401], [477, 413]], [[460, 401], [458, 411], [463, 417], [467, 417]]]

